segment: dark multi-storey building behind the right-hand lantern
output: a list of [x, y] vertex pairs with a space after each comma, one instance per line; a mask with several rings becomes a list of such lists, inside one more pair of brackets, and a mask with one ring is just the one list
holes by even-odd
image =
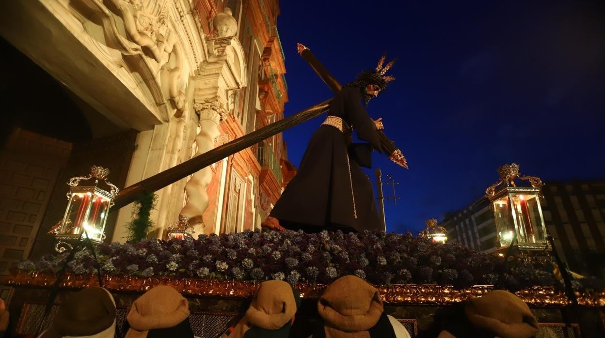
[[[605, 278], [605, 181], [547, 182], [542, 188], [546, 229], [569, 269]], [[441, 226], [448, 240], [474, 250], [494, 252], [494, 213], [480, 198], [446, 213]]]

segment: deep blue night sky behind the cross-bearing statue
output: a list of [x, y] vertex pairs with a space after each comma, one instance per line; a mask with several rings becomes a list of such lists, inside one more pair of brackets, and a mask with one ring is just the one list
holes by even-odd
[[[370, 5], [371, 4], [371, 5]], [[410, 164], [374, 153], [400, 182], [387, 230], [468, 206], [516, 162], [543, 180], [605, 178], [605, 10], [600, 1], [280, 1], [286, 115], [332, 96], [296, 53], [307, 45], [341, 83], [397, 57], [368, 112]], [[298, 166], [324, 117], [284, 132]], [[368, 172], [371, 173], [371, 172]], [[373, 177], [373, 175], [372, 175]], [[389, 190], [387, 190], [389, 191]], [[387, 193], [389, 196], [390, 193]]]

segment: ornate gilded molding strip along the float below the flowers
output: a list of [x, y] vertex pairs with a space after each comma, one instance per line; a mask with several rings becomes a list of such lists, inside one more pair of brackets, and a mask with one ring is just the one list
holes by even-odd
[[[12, 271], [0, 279], [0, 284], [13, 287], [53, 287], [56, 276], [49, 273], [23, 273]], [[143, 293], [156, 285], [170, 285], [180, 293], [195, 297], [247, 298], [257, 289], [258, 282], [219, 281], [217, 279], [195, 279], [174, 277], [103, 276], [103, 286], [111, 291]], [[98, 286], [96, 275], [66, 274], [60, 288], [80, 289]], [[324, 284], [297, 283], [301, 297], [318, 299]], [[463, 302], [469, 297], [479, 297], [494, 290], [492, 285], [474, 285], [456, 289], [451, 285], [394, 284], [374, 285], [382, 294], [382, 301], [390, 305], [448, 305]], [[571, 301], [553, 287], [531, 287], [515, 293], [532, 307], [567, 307]], [[597, 294], [577, 293], [578, 304], [585, 307], [605, 307], [605, 292]]]

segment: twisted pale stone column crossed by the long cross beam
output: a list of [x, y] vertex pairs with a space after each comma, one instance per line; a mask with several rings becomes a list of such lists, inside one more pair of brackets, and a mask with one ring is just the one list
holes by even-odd
[[[200, 115], [200, 132], [195, 137], [197, 152], [195, 156], [203, 154], [214, 148], [215, 141], [220, 135], [218, 124], [225, 118], [224, 105], [219, 97], [211, 97], [205, 100], [195, 100], [193, 108]], [[181, 209], [180, 216], [189, 218], [189, 225], [199, 228], [203, 232], [202, 215], [208, 207], [208, 193], [206, 187], [212, 180], [212, 169], [205, 167], [191, 176], [185, 184], [187, 192], [187, 203]], [[199, 232], [198, 229], [195, 229]]]

